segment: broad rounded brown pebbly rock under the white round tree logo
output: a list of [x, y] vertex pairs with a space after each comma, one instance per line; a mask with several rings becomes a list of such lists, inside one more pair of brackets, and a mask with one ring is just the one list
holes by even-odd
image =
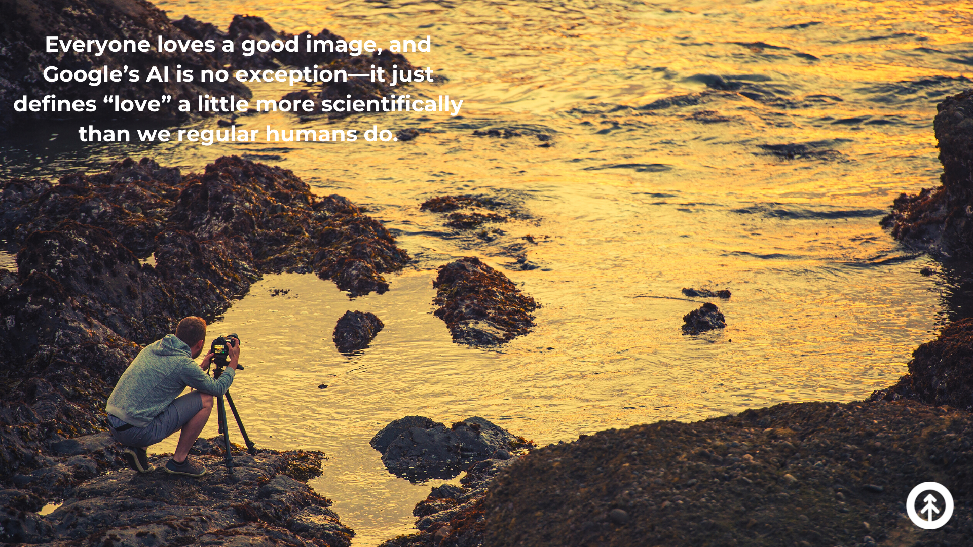
[[[390, 544], [966, 545], [971, 434], [969, 413], [916, 401], [609, 429], [514, 460], [483, 498], [479, 538]], [[926, 480], [953, 492], [943, 529], [905, 515]]]

